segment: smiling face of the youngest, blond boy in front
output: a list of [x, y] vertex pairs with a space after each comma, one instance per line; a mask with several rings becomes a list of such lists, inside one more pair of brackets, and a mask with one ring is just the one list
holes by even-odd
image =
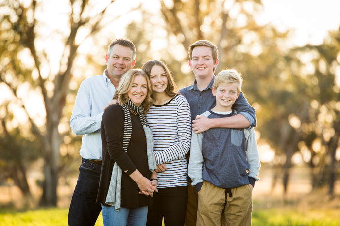
[[222, 83], [216, 90], [212, 88], [212, 93], [216, 97], [215, 111], [231, 111], [233, 105], [238, 99], [238, 85], [236, 83]]

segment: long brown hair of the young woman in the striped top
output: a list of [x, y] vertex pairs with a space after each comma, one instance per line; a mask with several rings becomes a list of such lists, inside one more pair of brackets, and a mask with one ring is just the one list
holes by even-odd
[[175, 91], [177, 89], [177, 85], [173, 80], [173, 75], [170, 69], [167, 67], [165, 63], [163, 63], [160, 60], [149, 60], [146, 63], [144, 63], [142, 70], [146, 73], [146, 75], [148, 75], [148, 77], [150, 77], [151, 69], [153, 68], [153, 66], [156, 65], [161, 66], [164, 69], [165, 74], [167, 75], [168, 85], [167, 88], [165, 89], [165, 93], [170, 97], [174, 97], [175, 95], [178, 94]]

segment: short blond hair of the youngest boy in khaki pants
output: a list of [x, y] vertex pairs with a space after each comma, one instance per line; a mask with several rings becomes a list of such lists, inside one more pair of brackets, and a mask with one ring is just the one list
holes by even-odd
[[221, 84], [236, 83], [239, 94], [241, 92], [242, 82], [243, 79], [240, 72], [236, 71], [235, 69], [227, 69], [216, 75], [213, 87], [214, 90], [217, 90], [217, 87]]

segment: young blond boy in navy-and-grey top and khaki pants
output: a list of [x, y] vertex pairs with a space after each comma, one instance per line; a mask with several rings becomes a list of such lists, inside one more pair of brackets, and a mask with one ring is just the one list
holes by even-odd
[[[232, 105], [242, 85], [236, 70], [221, 71], [212, 93], [216, 106], [202, 115], [224, 118], [236, 114]], [[188, 175], [198, 192], [197, 225], [251, 226], [252, 190], [260, 162], [254, 129], [210, 128], [192, 133]]]

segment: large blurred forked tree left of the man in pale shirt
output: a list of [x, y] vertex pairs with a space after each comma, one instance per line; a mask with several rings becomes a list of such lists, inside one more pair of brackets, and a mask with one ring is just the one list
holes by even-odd
[[[82, 41], [76, 42], [79, 30], [87, 30], [86, 37], [102, 29], [100, 24], [105, 11], [113, 1], [108, 2], [102, 9], [93, 10], [94, 4], [88, 0], [70, 0], [67, 6], [68, 28], [65, 30], [53, 31], [53, 35], [62, 36], [64, 49], [60, 61], [52, 62], [53, 52], [48, 52], [42, 45], [41, 40], [46, 38], [42, 30], [42, 12], [44, 2], [25, 2], [19, 0], [1, 1], [1, 25], [0, 25], [0, 82], [5, 83], [17, 101], [27, 113], [28, 121], [31, 124], [32, 133], [41, 143], [45, 160], [44, 183], [42, 205], [55, 206], [57, 203], [58, 172], [60, 167], [60, 144], [63, 139], [60, 136], [60, 119], [63, 115], [63, 108], [66, 103], [66, 96], [72, 77], [71, 69], [77, 49]], [[53, 44], [50, 44], [53, 45]], [[28, 52], [27, 52], [28, 50]], [[25, 52], [26, 55], [19, 56]], [[26, 58], [26, 59], [25, 59]], [[27, 67], [23, 61], [33, 58], [33, 66]], [[59, 65], [58, 71], [53, 73], [51, 64]], [[46, 111], [46, 122], [41, 126], [37, 125], [32, 115], [27, 111], [28, 105], [25, 99], [18, 94], [18, 88], [22, 84], [29, 86], [31, 90], [43, 97], [44, 110]], [[44, 114], [43, 114], [44, 115]]]

